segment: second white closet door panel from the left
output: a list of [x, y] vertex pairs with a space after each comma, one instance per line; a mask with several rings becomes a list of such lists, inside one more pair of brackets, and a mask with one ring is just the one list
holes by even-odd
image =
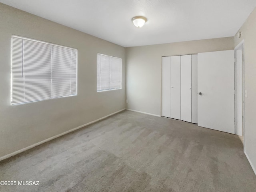
[[180, 56], [171, 56], [171, 118], [180, 120]]

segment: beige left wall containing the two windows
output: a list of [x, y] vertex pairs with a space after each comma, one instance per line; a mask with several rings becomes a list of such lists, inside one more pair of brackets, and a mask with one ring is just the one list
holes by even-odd
[[[10, 105], [12, 34], [78, 49], [78, 96]], [[96, 92], [97, 53], [122, 58], [122, 90]], [[0, 3], [0, 157], [125, 108], [125, 48]]]

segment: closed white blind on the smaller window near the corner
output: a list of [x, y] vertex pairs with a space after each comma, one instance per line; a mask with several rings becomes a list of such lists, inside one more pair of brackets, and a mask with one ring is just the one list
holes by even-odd
[[103, 54], [97, 58], [97, 91], [121, 89], [122, 59]]

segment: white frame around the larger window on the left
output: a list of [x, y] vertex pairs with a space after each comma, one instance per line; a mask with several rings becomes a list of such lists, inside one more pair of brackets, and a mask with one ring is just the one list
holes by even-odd
[[[20, 39], [24, 39], [24, 40], [30, 40], [30, 41], [34, 41], [34, 42], [39, 42], [39, 43], [43, 43], [43, 44], [48, 44], [51, 46], [57, 46], [57, 47], [62, 47], [62, 48], [68, 48], [70, 50], [75, 50], [76, 51], [76, 93], [72, 94], [72, 95], [67, 95], [67, 96], [56, 96], [56, 97], [52, 97], [52, 98], [45, 98], [45, 99], [38, 99], [38, 100], [33, 100], [33, 101], [26, 101], [26, 102], [19, 102], [19, 103], [13, 103], [13, 37], [14, 38], [20, 38]], [[42, 40], [37, 40], [37, 39], [33, 39], [33, 38], [28, 38], [28, 37], [24, 37], [24, 36], [19, 36], [19, 35], [15, 35], [12, 34], [11, 36], [11, 89], [10, 89], [10, 104], [12, 106], [15, 105], [20, 105], [20, 104], [27, 104], [27, 103], [33, 103], [33, 102], [38, 102], [38, 101], [44, 101], [44, 100], [51, 100], [51, 99], [57, 99], [57, 98], [66, 98], [66, 97], [72, 97], [72, 96], [77, 96], [78, 95], [78, 49], [77, 48], [73, 48], [73, 47], [69, 47], [69, 46], [63, 46], [60, 44], [54, 44], [54, 43], [50, 43], [50, 42], [46, 42], [46, 41], [42, 41]], [[52, 78], [51, 78], [52, 80]]]

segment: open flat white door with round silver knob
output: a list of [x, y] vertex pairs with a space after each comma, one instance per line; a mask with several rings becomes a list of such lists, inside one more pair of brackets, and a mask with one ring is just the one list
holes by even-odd
[[198, 54], [198, 126], [235, 133], [234, 71], [234, 50]]

